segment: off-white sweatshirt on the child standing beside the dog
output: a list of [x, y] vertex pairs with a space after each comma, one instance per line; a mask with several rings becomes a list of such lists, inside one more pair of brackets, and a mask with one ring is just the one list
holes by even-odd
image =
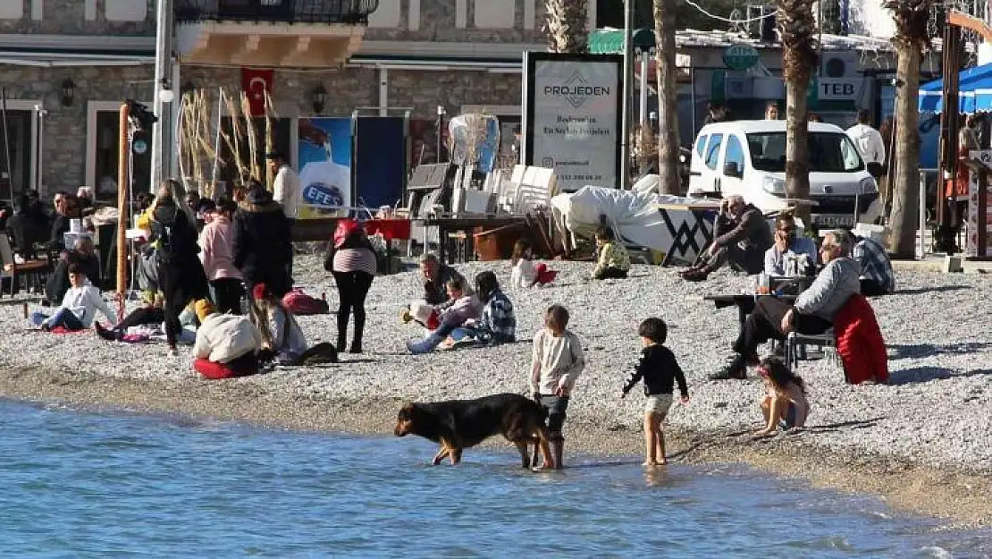
[[546, 328], [539, 330], [532, 356], [531, 390], [545, 395], [554, 394], [559, 387], [570, 393], [585, 368], [582, 343], [567, 330], [558, 337]]

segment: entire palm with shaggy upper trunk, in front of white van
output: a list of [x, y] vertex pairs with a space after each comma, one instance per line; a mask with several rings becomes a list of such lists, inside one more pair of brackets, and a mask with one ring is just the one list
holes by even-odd
[[[816, 64], [812, 0], [779, 0], [776, 18], [786, 79], [786, 194], [806, 200], [809, 198], [806, 90]], [[808, 212], [808, 207], [801, 206], [798, 213], [807, 217]]]

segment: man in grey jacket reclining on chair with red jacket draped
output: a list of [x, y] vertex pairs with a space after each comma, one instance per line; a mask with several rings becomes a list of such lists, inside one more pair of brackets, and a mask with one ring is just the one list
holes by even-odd
[[833, 328], [833, 317], [861, 290], [861, 266], [848, 254], [851, 237], [846, 231], [830, 231], [819, 247], [823, 269], [795, 306], [776, 297], [762, 297], [748, 315], [737, 337], [735, 354], [711, 380], [743, 379], [747, 365], [757, 363], [758, 346], [770, 339], [785, 341], [790, 332], [823, 334]]

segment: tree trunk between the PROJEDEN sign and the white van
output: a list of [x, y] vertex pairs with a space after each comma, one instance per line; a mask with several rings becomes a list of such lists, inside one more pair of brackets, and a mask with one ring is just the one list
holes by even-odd
[[675, 0], [655, 0], [658, 61], [658, 175], [661, 194], [682, 192], [679, 176], [679, 106], [676, 96]]

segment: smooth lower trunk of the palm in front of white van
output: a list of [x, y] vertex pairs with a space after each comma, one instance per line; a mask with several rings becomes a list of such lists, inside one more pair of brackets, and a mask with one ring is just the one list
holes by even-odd
[[[806, 90], [809, 72], [798, 71], [786, 79], [786, 195], [800, 200], [809, 199], [809, 135], [806, 123]], [[809, 227], [810, 208], [800, 205], [796, 215]]]

